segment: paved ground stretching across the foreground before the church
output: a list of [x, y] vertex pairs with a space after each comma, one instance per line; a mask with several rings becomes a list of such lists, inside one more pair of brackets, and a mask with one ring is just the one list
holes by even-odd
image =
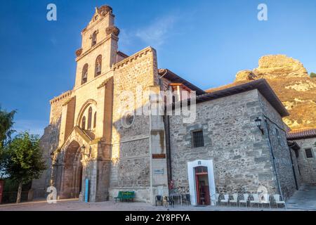
[[[316, 210], [316, 186], [302, 186], [288, 201], [287, 210]], [[195, 207], [175, 205], [168, 209], [163, 206], [154, 207], [147, 203], [82, 203], [79, 200], [60, 200], [56, 204], [48, 204], [45, 200], [31, 203], [0, 205], [0, 211], [258, 211], [270, 210], [258, 207]], [[284, 211], [284, 208], [271, 210]]]

